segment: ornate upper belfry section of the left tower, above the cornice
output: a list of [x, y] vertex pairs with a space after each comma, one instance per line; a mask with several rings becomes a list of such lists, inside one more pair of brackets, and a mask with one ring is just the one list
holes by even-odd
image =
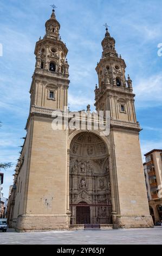
[[36, 66], [31, 84], [31, 112], [35, 109], [60, 109], [68, 105], [68, 49], [59, 34], [55, 10], [46, 22], [46, 35], [36, 43]]

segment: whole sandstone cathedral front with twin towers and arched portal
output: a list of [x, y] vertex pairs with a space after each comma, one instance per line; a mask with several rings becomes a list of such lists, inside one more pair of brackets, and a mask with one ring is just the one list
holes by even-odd
[[[55, 11], [36, 42], [30, 113], [11, 193], [9, 225], [18, 231], [153, 227], [142, 167], [132, 80], [106, 28], [96, 66], [96, 111], [110, 112], [109, 135], [54, 130], [53, 111], [68, 106], [68, 49]], [[87, 102], [88, 103], [88, 102]], [[87, 112], [90, 107], [87, 107]], [[87, 127], [87, 126], [86, 126]]]

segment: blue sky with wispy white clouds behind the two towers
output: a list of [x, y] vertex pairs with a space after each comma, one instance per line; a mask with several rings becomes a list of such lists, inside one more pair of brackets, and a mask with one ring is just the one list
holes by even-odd
[[[16, 164], [29, 114], [34, 48], [44, 36], [44, 23], [55, 4], [60, 34], [68, 47], [71, 110], [93, 106], [98, 83], [95, 67], [101, 58], [103, 24], [116, 40], [116, 50], [125, 59], [133, 80], [142, 154], [162, 148], [162, 42], [161, 0], [1, 0], [0, 2], [0, 161]], [[93, 110], [93, 107], [91, 107]], [[14, 167], [4, 173], [4, 196], [8, 197]]]

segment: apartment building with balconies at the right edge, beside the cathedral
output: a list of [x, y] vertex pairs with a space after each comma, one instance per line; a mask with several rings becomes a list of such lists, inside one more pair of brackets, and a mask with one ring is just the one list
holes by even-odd
[[150, 214], [154, 224], [162, 220], [162, 150], [145, 154], [144, 172]]

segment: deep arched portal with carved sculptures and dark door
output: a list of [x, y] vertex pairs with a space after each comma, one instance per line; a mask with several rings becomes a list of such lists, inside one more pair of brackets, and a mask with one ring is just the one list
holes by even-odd
[[112, 202], [108, 149], [91, 132], [70, 145], [70, 224], [111, 224]]

